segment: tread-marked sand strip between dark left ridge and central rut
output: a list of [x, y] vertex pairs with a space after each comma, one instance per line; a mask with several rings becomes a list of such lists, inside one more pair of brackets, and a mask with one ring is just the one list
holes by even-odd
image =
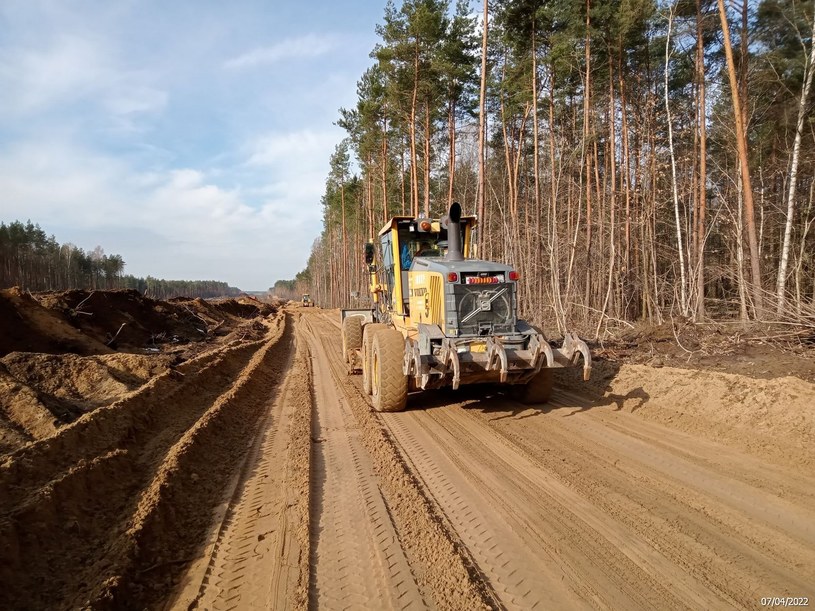
[[296, 341], [205, 562], [168, 608], [304, 609], [311, 380]]

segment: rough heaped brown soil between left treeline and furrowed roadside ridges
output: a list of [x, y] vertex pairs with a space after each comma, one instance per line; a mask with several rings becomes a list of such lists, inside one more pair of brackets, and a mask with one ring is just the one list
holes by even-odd
[[277, 309], [246, 298], [161, 302], [136, 291], [0, 290], [0, 456], [202, 351], [261, 340]]

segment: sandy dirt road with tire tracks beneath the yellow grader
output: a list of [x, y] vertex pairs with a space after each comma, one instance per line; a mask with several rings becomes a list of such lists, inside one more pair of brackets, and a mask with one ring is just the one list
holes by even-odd
[[[376, 414], [335, 312], [302, 312], [295, 335], [216, 537], [238, 551], [210, 559], [220, 577], [198, 582], [200, 608], [738, 609], [815, 594], [805, 471], [575, 391], [529, 407], [470, 387]], [[304, 439], [290, 421], [306, 405], [309, 511], [292, 521]], [[299, 594], [280, 585], [298, 579]]]

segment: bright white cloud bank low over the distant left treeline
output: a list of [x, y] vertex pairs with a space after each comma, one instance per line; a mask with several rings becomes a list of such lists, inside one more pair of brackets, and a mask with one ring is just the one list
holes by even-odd
[[30, 218], [86, 250], [100, 244], [137, 276], [262, 290], [305, 266], [321, 229], [304, 184], [262, 185], [266, 199], [253, 206], [199, 170], [139, 172], [70, 141], [29, 142], [0, 154], [0, 220]]

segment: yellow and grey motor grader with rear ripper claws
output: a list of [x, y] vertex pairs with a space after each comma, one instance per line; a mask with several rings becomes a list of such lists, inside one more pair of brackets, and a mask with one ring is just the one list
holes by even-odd
[[397, 216], [365, 244], [373, 308], [341, 311], [342, 350], [374, 409], [401, 411], [410, 391], [493, 382], [524, 403], [549, 399], [553, 370], [583, 364], [585, 342], [560, 348], [517, 318], [518, 273], [470, 258], [476, 218], [454, 202], [441, 219]]

